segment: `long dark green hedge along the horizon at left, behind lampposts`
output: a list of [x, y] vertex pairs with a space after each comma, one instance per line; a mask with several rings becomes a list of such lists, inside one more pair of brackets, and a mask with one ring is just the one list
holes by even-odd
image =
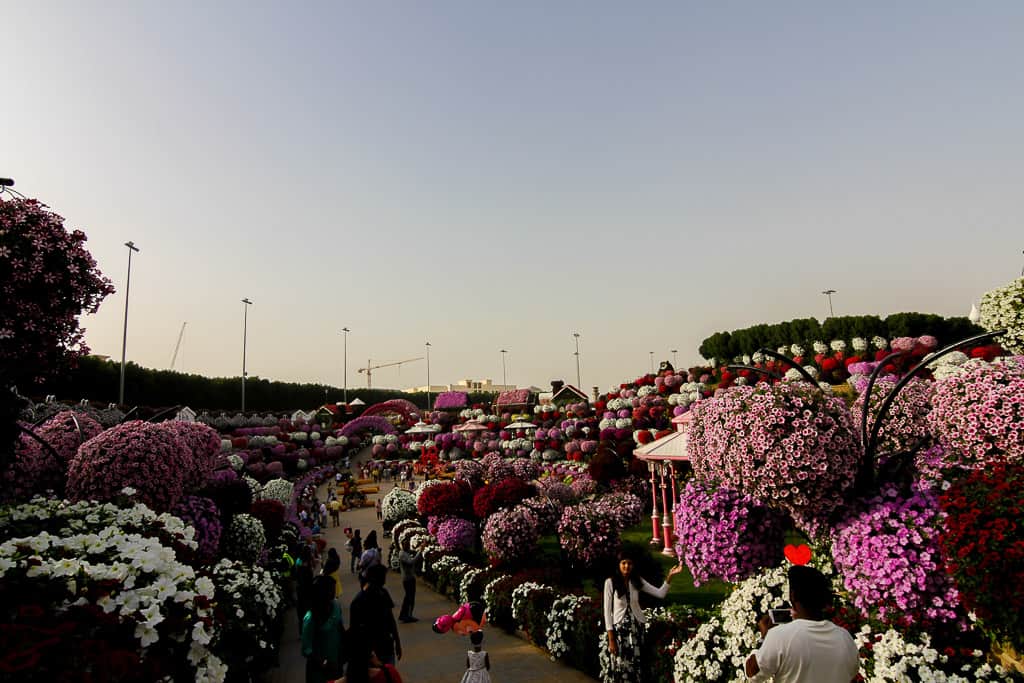
[[[54, 394], [59, 399], [88, 398], [117, 402], [121, 365], [95, 357], [82, 358], [78, 368], [32, 389], [34, 397]], [[326, 394], [325, 394], [326, 391]], [[247, 411], [309, 410], [342, 400], [342, 389], [326, 384], [273, 382], [260, 377], [246, 380]], [[373, 405], [389, 398], [406, 398], [420, 408], [427, 404], [426, 393], [406, 393], [397, 389], [348, 387], [348, 399], [358, 397]], [[431, 396], [433, 400], [436, 396]], [[496, 395], [471, 393], [470, 404], [490, 403]], [[169, 370], [151, 370], [134, 362], [125, 367], [125, 399], [130, 405], [189, 405], [196, 410], [239, 410], [242, 407], [242, 378], [204, 377]]]

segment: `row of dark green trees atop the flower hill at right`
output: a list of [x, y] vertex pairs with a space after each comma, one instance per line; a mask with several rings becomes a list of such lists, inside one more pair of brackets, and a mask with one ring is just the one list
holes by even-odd
[[729, 360], [737, 355], [751, 354], [759, 348], [777, 349], [780, 346], [801, 344], [808, 350], [815, 341], [828, 343], [833, 339], [849, 342], [854, 337], [870, 340], [880, 336], [920, 337], [932, 335], [940, 344], [984, 332], [966, 317], [943, 317], [933, 313], [893, 313], [882, 318], [878, 315], [842, 315], [819, 323], [813, 317], [800, 317], [788, 323], [755, 325], [732, 332], [717, 332], [708, 337], [698, 349], [706, 358]]

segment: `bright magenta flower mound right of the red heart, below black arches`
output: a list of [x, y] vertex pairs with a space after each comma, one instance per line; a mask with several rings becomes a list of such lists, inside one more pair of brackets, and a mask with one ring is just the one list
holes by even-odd
[[904, 498], [895, 487], [837, 526], [833, 555], [854, 606], [890, 623], [958, 618], [959, 596], [939, 553], [941, 526], [935, 494], [915, 490]]

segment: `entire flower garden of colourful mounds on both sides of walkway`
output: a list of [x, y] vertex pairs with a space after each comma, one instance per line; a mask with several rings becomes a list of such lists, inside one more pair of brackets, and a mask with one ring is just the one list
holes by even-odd
[[[794, 338], [593, 402], [447, 392], [341, 424], [146, 422], [11, 390], [86, 352], [78, 315], [111, 288], [84, 236], [38, 203], [0, 202], [0, 680], [265, 671], [286, 555], [310, 536], [303, 497], [361, 450], [434, 475], [383, 500], [393, 566], [399, 547], [422, 552], [437, 591], [598, 676], [598, 586], [650, 528], [653, 479], [634, 451], [683, 415], [669, 527], [692, 582], [648, 606], [652, 680], [743, 680], [801, 545], [834, 582], [829, 617], [865, 681], [1024, 680], [1024, 279], [982, 300], [994, 341], [951, 351], [959, 339], [928, 334]], [[656, 583], [664, 564], [644, 555]]]

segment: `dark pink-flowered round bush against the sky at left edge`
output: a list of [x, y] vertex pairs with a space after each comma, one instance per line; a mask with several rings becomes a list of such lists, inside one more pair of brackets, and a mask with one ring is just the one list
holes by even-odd
[[88, 353], [79, 315], [95, 313], [113, 292], [85, 249], [84, 232], [69, 232], [63, 218], [35, 200], [0, 200], [3, 390]]

